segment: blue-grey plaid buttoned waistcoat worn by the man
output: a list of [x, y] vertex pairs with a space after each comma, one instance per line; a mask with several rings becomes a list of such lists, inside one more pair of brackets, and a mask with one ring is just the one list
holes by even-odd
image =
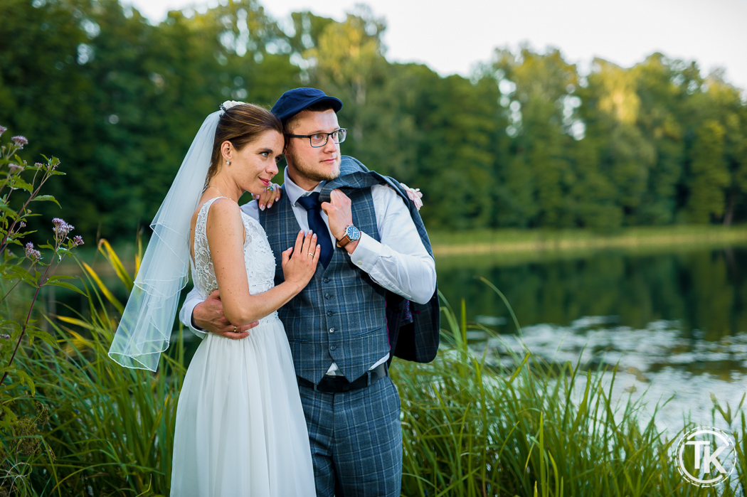
[[[379, 240], [371, 189], [346, 192], [353, 224]], [[294, 246], [300, 226], [291, 202], [283, 195], [278, 204], [260, 211], [276, 259], [275, 284], [284, 281], [282, 251]], [[326, 269], [319, 264], [309, 285], [278, 310], [291, 345], [296, 374], [318, 383], [332, 361], [350, 381], [355, 380], [389, 352], [385, 293], [367, 273], [335, 247]]]

